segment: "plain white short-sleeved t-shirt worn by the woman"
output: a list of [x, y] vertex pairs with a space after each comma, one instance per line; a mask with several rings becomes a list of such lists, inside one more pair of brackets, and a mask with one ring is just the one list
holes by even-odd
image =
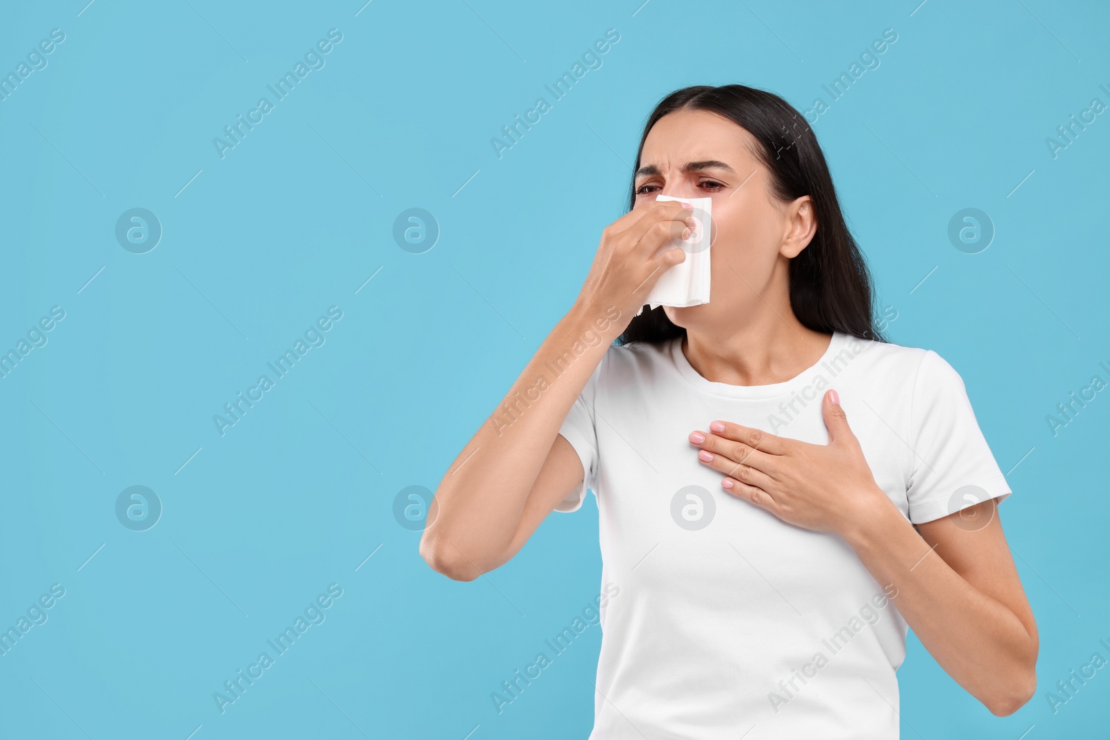
[[911, 523], [1009, 496], [963, 381], [931, 349], [836, 332], [795, 378], [739, 386], [699, 375], [682, 338], [610, 346], [559, 429], [586, 474], [555, 507], [594, 491], [616, 591], [591, 740], [898, 738], [907, 625], [886, 585], [838, 535], [728, 494], [688, 442], [719, 418], [828, 444], [828, 387]]

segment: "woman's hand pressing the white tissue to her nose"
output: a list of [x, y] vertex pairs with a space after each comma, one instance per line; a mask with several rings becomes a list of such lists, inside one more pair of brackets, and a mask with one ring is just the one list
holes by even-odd
[[656, 252], [690, 235], [696, 223], [690, 211], [680, 201], [650, 201], [606, 226], [575, 305], [587, 315], [616, 307], [620, 320], [615, 328], [623, 332], [663, 273], [686, 260], [682, 247]]

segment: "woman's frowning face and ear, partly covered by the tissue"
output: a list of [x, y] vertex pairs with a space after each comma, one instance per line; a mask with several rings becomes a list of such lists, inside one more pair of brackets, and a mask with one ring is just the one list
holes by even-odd
[[644, 142], [635, 207], [657, 195], [713, 199], [709, 303], [666, 306], [678, 326], [735, 322], [788, 296], [789, 259], [816, 231], [809, 196], [776, 201], [770, 173], [748, 146], [756, 140], [747, 130], [709, 111], [664, 115]]

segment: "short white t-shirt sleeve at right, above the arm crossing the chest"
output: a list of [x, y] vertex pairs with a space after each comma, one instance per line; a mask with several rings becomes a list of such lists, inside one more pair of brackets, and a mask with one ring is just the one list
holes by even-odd
[[995, 498], [1009, 497], [979, 429], [963, 378], [932, 349], [921, 358], [910, 392], [909, 520], [932, 521]]

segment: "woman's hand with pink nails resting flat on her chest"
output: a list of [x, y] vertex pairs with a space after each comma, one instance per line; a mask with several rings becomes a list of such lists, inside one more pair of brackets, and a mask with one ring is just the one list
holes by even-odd
[[694, 432], [689, 440], [700, 448], [703, 465], [728, 476], [722, 487], [737, 498], [799, 527], [844, 536], [890, 499], [875, 481], [835, 391], [821, 399], [821, 414], [827, 445], [730, 422], [713, 422], [708, 433]]

